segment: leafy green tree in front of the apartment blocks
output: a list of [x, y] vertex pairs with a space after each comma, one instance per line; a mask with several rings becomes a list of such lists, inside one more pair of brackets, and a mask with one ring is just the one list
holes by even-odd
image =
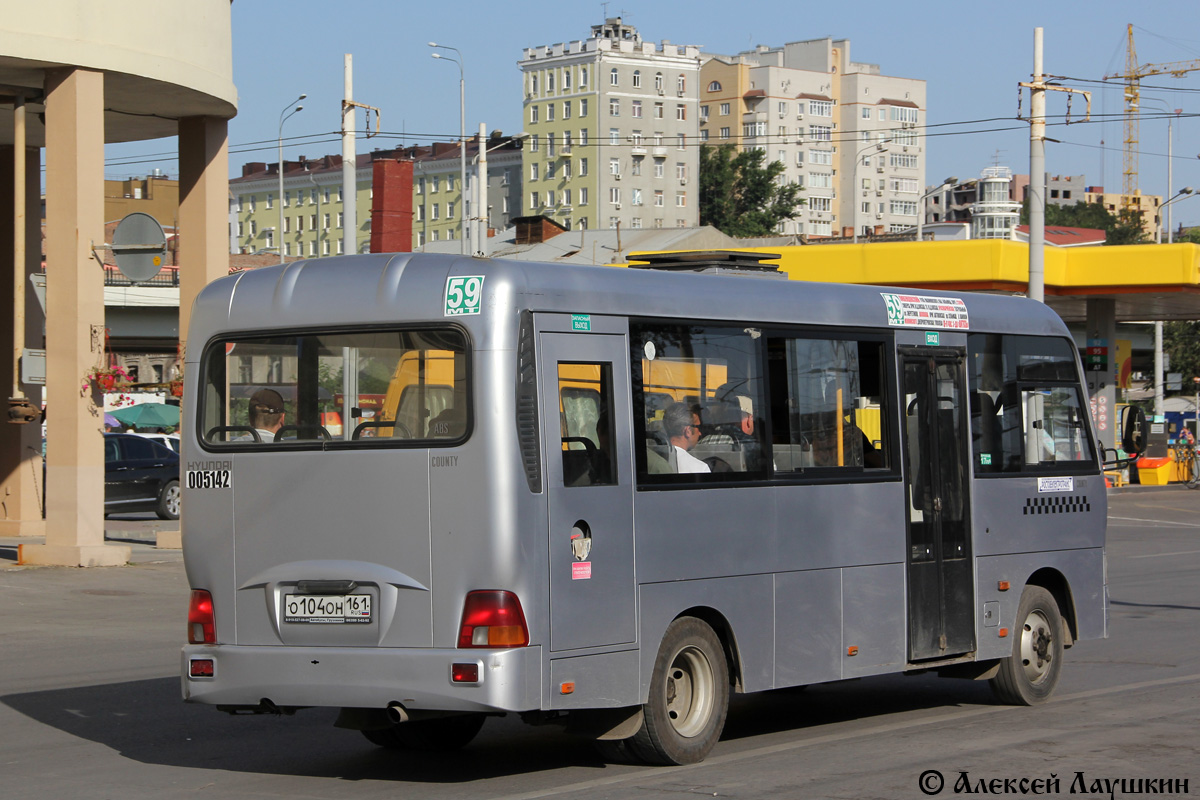
[[728, 236], [770, 236], [796, 216], [804, 199], [796, 184], [780, 184], [784, 164], [763, 166], [767, 154], [732, 144], [700, 149], [700, 224]]

